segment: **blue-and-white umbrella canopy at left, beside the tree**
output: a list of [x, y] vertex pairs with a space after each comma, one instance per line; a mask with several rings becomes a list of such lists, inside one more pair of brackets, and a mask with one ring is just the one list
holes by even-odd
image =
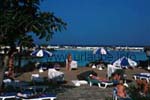
[[37, 57], [50, 57], [52, 56], [52, 53], [47, 50], [36, 50], [31, 53], [32, 56]]

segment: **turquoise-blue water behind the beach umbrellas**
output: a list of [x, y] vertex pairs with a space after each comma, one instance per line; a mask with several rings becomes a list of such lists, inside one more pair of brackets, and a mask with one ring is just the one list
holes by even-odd
[[104, 61], [108, 63], [112, 63], [115, 60], [119, 59], [122, 56], [129, 57], [135, 61], [144, 61], [148, 58], [146, 54], [142, 51], [115, 51], [110, 50], [108, 54], [101, 55], [101, 54], [93, 54], [92, 50], [55, 50], [52, 51], [52, 57], [42, 57], [40, 59], [23, 59], [22, 66], [29, 61], [32, 62], [65, 62], [67, 55], [70, 53], [72, 54], [73, 60], [78, 62], [78, 66], [86, 66], [88, 63], [93, 61]]

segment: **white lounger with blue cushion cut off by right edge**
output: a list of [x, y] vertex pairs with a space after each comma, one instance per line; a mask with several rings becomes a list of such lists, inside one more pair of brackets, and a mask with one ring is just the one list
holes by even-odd
[[150, 82], [150, 73], [139, 73], [139, 74], [134, 74], [133, 78], [136, 79], [145, 79], [147, 82]]

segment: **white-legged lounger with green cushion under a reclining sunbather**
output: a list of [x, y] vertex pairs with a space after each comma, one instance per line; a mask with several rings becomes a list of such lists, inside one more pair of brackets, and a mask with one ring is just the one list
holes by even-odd
[[100, 81], [97, 79], [92, 79], [89, 76], [87, 77], [87, 81], [90, 84], [90, 86], [97, 84], [100, 88], [107, 88], [108, 86], [112, 86], [113, 82], [112, 81]]

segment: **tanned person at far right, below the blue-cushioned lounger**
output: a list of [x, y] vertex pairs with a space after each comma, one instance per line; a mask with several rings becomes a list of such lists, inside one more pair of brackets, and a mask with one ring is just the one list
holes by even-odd
[[136, 84], [141, 95], [145, 96], [148, 94], [148, 82], [146, 80], [137, 79]]

